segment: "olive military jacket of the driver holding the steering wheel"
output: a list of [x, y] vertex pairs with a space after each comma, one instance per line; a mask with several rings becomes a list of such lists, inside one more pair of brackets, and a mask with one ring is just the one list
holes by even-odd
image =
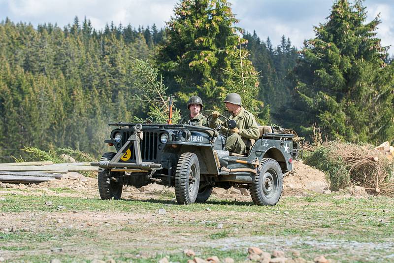
[[[252, 113], [241, 107], [241, 110], [237, 115], [233, 116], [232, 112], [226, 110], [223, 112], [224, 116], [229, 118], [230, 120], [234, 120], [237, 124], [237, 128], [239, 129], [239, 135], [242, 137], [244, 141], [247, 139], [255, 139], [257, 140], [260, 137], [260, 131], [257, 127], [257, 122]], [[212, 120], [213, 123], [209, 123], [210, 128], [215, 128], [215, 125], [222, 124], [227, 131], [227, 123], [225, 121], [219, 119]]]

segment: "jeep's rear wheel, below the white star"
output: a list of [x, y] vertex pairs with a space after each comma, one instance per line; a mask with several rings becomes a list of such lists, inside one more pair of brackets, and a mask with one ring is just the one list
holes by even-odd
[[275, 205], [282, 195], [282, 169], [270, 158], [263, 158], [260, 167], [260, 173], [250, 186], [250, 195], [257, 205]]

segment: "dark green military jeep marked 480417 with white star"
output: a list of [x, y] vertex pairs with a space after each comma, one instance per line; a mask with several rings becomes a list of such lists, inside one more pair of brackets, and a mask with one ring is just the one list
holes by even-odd
[[[221, 116], [224, 117], [224, 116]], [[156, 182], [175, 188], [179, 204], [205, 202], [213, 187], [250, 190], [257, 205], [275, 205], [282, 194], [283, 174], [302, 155], [295, 135], [261, 126], [246, 155], [226, 151], [226, 129], [203, 126], [112, 123], [117, 126], [104, 140], [116, 152], [99, 162], [101, 199], [119, 199], [123, 185], [141, 187]], [[235, 122], [228, 120], [228, 129]], [[221, 131], [221, 132], [218, 132]]]

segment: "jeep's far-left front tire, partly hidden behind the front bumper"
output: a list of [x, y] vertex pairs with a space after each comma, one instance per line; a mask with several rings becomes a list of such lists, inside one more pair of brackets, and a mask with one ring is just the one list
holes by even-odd
[[[104, 153], [100, 161], [111, 161], [116, 153]], [[97, 181], [99, 184], [99, 194], [102, 200], [120, 199], [123, 191], [123, 184], [110, 180], [110, 177], [119, 176], [120, 172], [111, 172], [109, 169], [99, 168]]]

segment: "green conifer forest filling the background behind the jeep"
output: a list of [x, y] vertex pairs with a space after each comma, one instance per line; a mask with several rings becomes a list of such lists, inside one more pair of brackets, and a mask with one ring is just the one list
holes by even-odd
[[227, 0], [181, 0], [164, 28], [2, 18], [0, 156], [29, 146], [98, 157], [108, 123], [158, 120], [140, 85], [149, 69], [180, 115], [190, 96], [202, 98], [208, 115], [239, 92], [261, 125], [306, 139], [318, 127], [329, 139], [393, 142], [394, 65], [376, 36], [379, 17], [366, 12], [363, 1], [335, 0], [300, 49], [286, 35], [274, 45], [239, 28]]

